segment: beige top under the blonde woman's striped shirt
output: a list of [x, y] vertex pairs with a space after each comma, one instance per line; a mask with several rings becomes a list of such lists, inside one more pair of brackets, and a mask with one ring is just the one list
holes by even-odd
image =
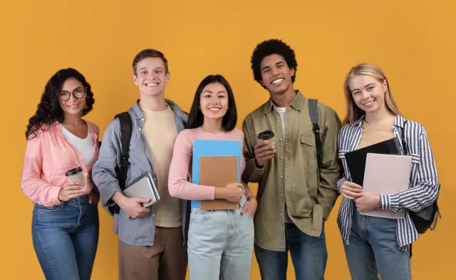
[[366, 120], [363, 120], [363, 135], [361, 135], [361, 140], [359, 140], [356, 150], [393, 138], [393, 125], [394, 118], [375, 126], [370, 125], [369, 123], [366, 123]]

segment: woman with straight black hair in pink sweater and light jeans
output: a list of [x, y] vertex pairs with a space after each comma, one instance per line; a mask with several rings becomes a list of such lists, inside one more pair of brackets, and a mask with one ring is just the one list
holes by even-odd
[[[236, 103], [229, 83], [220, 75], [207, 76], [197, 88], [189, 129], [177, 135], [170, 166], [170, 195], [189, 200], [227, 199], [238, 202], [239, 209], [192, 208], [188, 233], [190, 280], [250, 278], [257, 199], [242, 183], [216, 188], [187, 181], [192, 173], [193, 140], [234, 140], [243, 145], [244, 133], [235, 128], [236, 123]], [[240, 162], [242, 173], [243, 156]]]

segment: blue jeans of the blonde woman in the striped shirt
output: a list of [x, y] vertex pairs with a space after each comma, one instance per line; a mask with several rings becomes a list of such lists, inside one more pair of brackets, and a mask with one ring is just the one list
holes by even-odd
[[345, 252], [353, 280], [410, 280], [410, 254], [398, 248], [397, 219], [359, 214], [353, 223]]

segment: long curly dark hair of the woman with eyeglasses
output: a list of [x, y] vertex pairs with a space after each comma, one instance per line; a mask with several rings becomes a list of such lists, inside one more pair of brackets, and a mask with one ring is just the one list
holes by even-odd
[[38, 109], [35, 115], [28, 120], [26, 130], [27, 139], [35, 138], [38, 130], [48, 130], [49, 126], [56, 121], [59, 123], [63, 122], [63, 110], [58, 102], [58, 95], [63, 83], [68, 78], [76, 78], [87, 90], [86, 107], [81, 111], [81, 117], [87, 115], [92, 110], [95, 99], [93, 98], [90, 83], [87, 83], [83, 74], [73, 68], [61, 69], [46, 83], [44, 93], [41, 95], [41, 102], [38, 104]]

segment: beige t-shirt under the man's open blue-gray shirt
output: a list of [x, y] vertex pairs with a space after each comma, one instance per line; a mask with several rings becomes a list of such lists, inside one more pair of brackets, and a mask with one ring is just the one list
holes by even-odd
[[168, 190], [172, 151], [177, 137], [174, 112], [169, 106], [162, 111], [141, 110], [145, 118], [142, 134], [149, 145], [160, 195], [155, 224], [157, 227], [180, 227], [180, 199], [171, 197]]

